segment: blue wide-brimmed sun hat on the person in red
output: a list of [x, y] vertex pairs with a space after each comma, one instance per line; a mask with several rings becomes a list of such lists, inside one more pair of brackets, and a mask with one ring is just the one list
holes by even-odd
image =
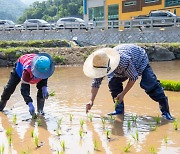
[[47, 53], [39, 53], [32, 59], [31, 71], [37, 78], [49, 78], [54, 73], [54, 69], [54, 62]]

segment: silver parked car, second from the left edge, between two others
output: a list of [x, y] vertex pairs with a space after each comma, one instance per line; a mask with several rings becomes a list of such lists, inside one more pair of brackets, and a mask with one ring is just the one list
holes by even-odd
[[28, 30], [49, 30], [53, 28], [51, 24], [42, 19], [27, 19], [23, 23], [23, 27]]

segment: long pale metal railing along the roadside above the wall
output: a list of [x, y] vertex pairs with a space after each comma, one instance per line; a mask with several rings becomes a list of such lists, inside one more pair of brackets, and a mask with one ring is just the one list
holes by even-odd
[[133, 28], [154, 28], [154, 27], [180, 27], [180, 17], [165, 17], [165, 18], [145, 18], [132, 20], [109, 20], [109, 21], [94, 21], [93, 23], [85, 24], [56, 24], [48, 25], [12, 25], [1, 26], [0, 31], [27, 31], [27, 30], [63, 30], [63, 29], [133, 29]]

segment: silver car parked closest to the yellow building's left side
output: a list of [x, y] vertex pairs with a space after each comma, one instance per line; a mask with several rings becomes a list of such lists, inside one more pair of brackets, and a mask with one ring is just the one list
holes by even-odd
[[91, 29], [93, 26], [92, 22], [85, 23], [83, 19], [75, 17], [60, 18], [56, 23], [56, 29]]

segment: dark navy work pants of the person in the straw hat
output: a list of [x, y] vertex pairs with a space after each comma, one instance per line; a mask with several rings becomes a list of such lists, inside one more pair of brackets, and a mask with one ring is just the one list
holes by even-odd
[[[112, 98], [114, 98], [123, 91], [123, 84], [127, 78], [112, 77], [109, 80], [109, 90], [111, 92]], [[156, 102], [162, 102], [167, 99], [164, 94], [164, 90], [157, 80], [150, 65], [147, 65], [142, 73], [142, 78], [140, 82], [141, 88]]]

